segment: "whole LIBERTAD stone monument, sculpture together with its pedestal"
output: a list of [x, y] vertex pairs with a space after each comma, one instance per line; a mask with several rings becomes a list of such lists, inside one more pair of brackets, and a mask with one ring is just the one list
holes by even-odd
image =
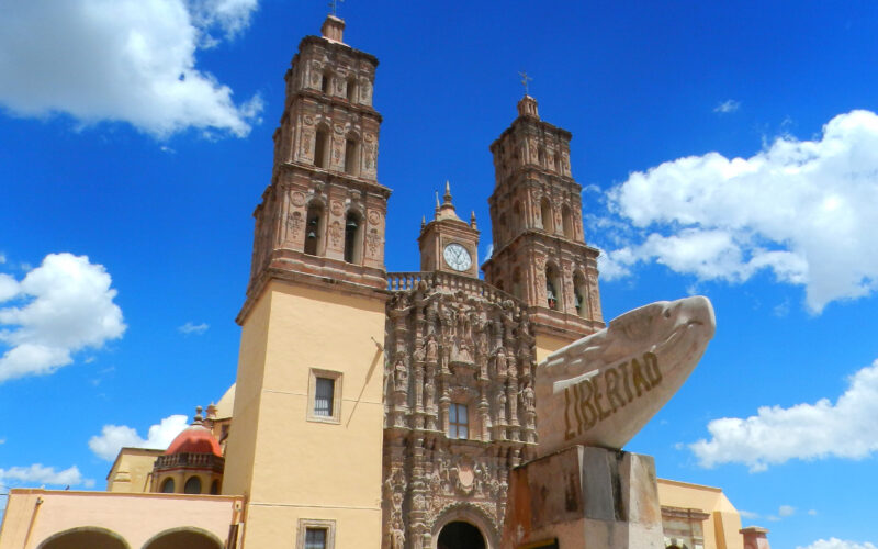
[[707, 298], [662, 301], [538, 366], [539, 457], [509, 477], [504, 548], [664, 548], [655, 463], [621, 449], [683, 385], [714, 328]]

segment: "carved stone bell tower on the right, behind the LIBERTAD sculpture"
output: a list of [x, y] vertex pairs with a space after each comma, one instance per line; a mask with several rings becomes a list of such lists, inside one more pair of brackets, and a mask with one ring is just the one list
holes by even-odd
[[540, 120], [537, 100], [526, 94], [518, 117], [491, 145], [494, 253], [482, 268], [488, 283], [532, 307], [538, 361], [604, 327], [598, 251], [585, 244], [570, 139]]

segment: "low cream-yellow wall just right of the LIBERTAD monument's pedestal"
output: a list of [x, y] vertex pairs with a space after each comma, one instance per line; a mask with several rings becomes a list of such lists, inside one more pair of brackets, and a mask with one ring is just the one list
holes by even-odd
[[658, 479], [658, 503], [671, 507], [696, 508], [710, 514], [705, 520], [705, 549], [743, 549], [741, 515], [722, 490], [699, 484]]

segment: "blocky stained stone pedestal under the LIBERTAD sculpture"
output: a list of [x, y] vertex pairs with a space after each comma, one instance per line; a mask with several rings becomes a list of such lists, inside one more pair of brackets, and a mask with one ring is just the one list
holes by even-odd
[[503, 549], [664, 549], [655, 463], [573, 446], [514, 469]]

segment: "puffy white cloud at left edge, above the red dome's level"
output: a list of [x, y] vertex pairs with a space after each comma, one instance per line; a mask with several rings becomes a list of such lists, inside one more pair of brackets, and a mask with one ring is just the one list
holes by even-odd
[[21, 282], [0, 274], [0, 382], [44, 376], [72, 362], [80, 349], [100, 348], [125, 332], [116, 291], [102, 265], [86, 256], [49, 254]]

